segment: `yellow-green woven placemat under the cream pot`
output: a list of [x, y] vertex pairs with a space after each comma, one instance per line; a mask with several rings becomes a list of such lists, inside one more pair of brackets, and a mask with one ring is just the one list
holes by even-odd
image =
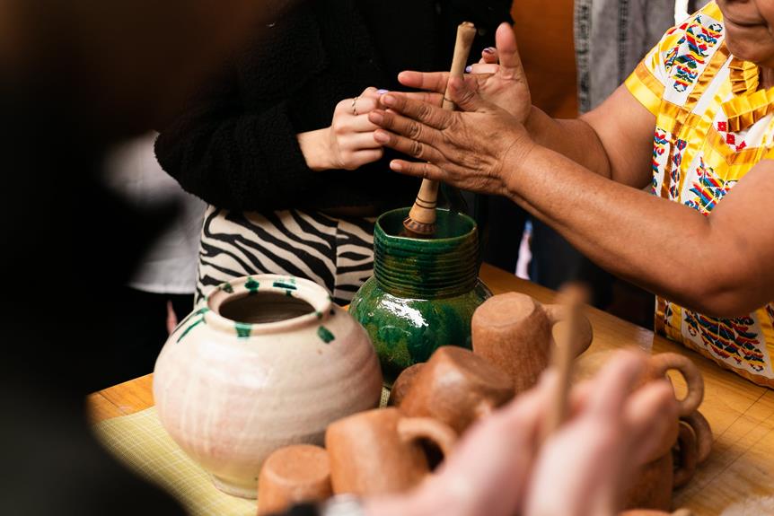
[[[382, 390], [382, 407], [390, 393]], [[207, 472], [172, 441], [155, 407], [94, 426], [102, 444], [137, 474], [161, 485], [193, 516], [255, 516], [255, 500], [218, 491]]]

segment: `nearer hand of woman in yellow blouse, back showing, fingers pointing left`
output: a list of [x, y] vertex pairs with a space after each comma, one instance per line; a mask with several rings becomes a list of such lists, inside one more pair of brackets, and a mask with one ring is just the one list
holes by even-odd
[[391, 169], [465, 190], [507, 195], [516, 165], [534, 146], [531, 138], [517, 119], [483, 101], [461, 79], [449, 81], [449, 96], [466, 112], [445, 111], [406, 93], [383, 95], [381, 104], [388, 110], [369, 114], [369, 120], [383, 127], [374, 139], [423, 161], [393, 160]]

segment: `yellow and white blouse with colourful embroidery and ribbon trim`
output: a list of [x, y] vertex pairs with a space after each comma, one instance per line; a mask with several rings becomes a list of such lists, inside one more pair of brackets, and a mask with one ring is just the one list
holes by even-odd
[[[704, 215], [756, 163], [774, 159], [774, 88], [759, 89], [758, 66], [730, 54], [725, 32], [712, 2], [667, 31], [626, 81], [656, 117], [653, 194]], [[770, 388], [772, 324], [772, 302], [718, 319], [656, 298], [656, 331]]]

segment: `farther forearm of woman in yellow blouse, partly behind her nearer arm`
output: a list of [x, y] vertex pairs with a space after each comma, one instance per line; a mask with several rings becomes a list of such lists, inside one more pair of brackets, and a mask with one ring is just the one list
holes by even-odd
[[566, 156], [604, 178], [611, 177], [607, 152], [594, 128], [584, 120], [550, 118], [541, 109], [532, 106], [525, 127], [537, 144]]

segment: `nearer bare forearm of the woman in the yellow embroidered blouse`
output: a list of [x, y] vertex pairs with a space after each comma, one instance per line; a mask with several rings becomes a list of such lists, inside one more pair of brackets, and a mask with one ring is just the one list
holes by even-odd
[[506, 162], [510, 197], [600, 266], [694, 310], [730, 316], [751, 308], [733, 273], [744, 267], [734, 263], [743, 249], [717, 235], [708, 217], [541, 146], [516, 158]]

